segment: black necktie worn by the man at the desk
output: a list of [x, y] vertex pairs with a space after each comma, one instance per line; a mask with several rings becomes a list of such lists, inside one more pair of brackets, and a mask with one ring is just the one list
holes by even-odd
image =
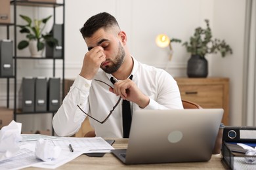
[[[129, 78], [132, 80], [133, 75], [131, 75]], [[110, 78], [110, 81], [113, 84], [115, 84], [116, 82], [113, 77]], [[131, 129], [131, 107], [130, 107], [130, 102], [127, 100], [123, 100], [122, 116], [123, 116], [123, 138], [129, 138], [129, 133]]]

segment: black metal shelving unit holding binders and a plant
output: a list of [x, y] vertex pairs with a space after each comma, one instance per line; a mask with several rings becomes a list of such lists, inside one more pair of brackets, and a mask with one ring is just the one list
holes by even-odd
[[[54, 112], [51, 111], [45, 111], [45, 112], [22, 112], [20, 108], [18, 108], [18, 90], [17, 90], [17, 80], [18, 80], [18, 68], [17, 68], [17, 63], [20, 60], [26, 59], [28, 62], [29, 61], [34, 61], [36, 60], [41, 60], [41, 59], [47, 59], [47, 60], [53, 60], [53, 77], [56, 76], [56, 60], [62, 60], [62, 97], [64, 94], [64, 21], [65, 21], [65, 1], [63, 0], [63, 3], [50, 3], [50, 2], [37, 2], [37, 1], [19, 1], [19, 0], [14, 0], [10, 1], [12, 7], [13, 7], [13, 23], [12, 24], [0, 24], [0, 26], [6, 26], [7, 27], [7, 39], [9, 39], [11, 33], [10, 33], [10, 27], [14, 27], [13, 31], [13, 48], [14, 48], [14, 55], [13, 55], [13, 62], [14, 62], [14, 76], [12, 77], [7, 77], [7, 108], [9, 108], [9, 95], [10, 95], [10, 88], [9, 88], [9, 79], [13, 78], [14, 79], [14, 107], [13, 107], [13, 115], [14, 115], [14, 120], [16, 120], [17, 115], [23, 115], [23, 114], [45, 114], [45, 113], [52, 113], [54, 115]], [[56, 8], [62, 7], [63, 8], [63, 16], [62, 16], [62, 57], [61, 58], [33, 58], [30, 56], [18, 56], [17, 55], [17, 15], [19, 14], [17, 7], [46, 7], [46, 8], [51, 8], [53, 9], [53, 24], [56, 24]], [[1, 77], [2, 78], [2, 77]], [[53, 131], [52, 131], [53, 132]]]

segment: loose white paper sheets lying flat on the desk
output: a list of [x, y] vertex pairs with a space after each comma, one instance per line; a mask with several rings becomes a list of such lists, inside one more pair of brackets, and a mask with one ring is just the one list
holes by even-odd
[[[38, 139], [49, 140], [53, 146], [60, 146], [60, 156], [51, 161], [42, 161], [35, 158], [35, 143]], [[70, 144], [73, 151], [70, 150]], [[7, 160], [0, 160], [1, 169], [22, 169], [24, 167], [41, 167], [54, 169], [74, 160], [83, 153], [110, 152], [114, 149], [101, 137], [76, 138], [76, 137], [51, 137], [46, 135], [22, 135], [20, 150]]]

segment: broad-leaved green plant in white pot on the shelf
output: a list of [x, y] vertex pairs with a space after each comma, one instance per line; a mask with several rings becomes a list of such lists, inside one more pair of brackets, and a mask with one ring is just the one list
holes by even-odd
[[51, 16], [41, 20], [34, 20], [33, 24], [30, 17], [24, 15], [20, 15], [20, 17], [28, 23], [26, 25], [18, 25], [18, 27], [20, 27], [20, 33], [26, 33], [28, 40], [22, 40], [18, 43], [19, 50], [29, 46], [32, 56], [39, 57], [45, 48], [45, 42], [52, 48], [58, 44], [58, 41], [54, 39], [52, 33], [43, 34], [45, 25]]

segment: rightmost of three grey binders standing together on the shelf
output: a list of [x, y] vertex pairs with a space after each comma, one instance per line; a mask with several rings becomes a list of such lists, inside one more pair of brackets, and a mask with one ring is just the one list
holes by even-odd
[[48, 110], [57, 111], [60, 107], [60, 78], [49, 78]]

